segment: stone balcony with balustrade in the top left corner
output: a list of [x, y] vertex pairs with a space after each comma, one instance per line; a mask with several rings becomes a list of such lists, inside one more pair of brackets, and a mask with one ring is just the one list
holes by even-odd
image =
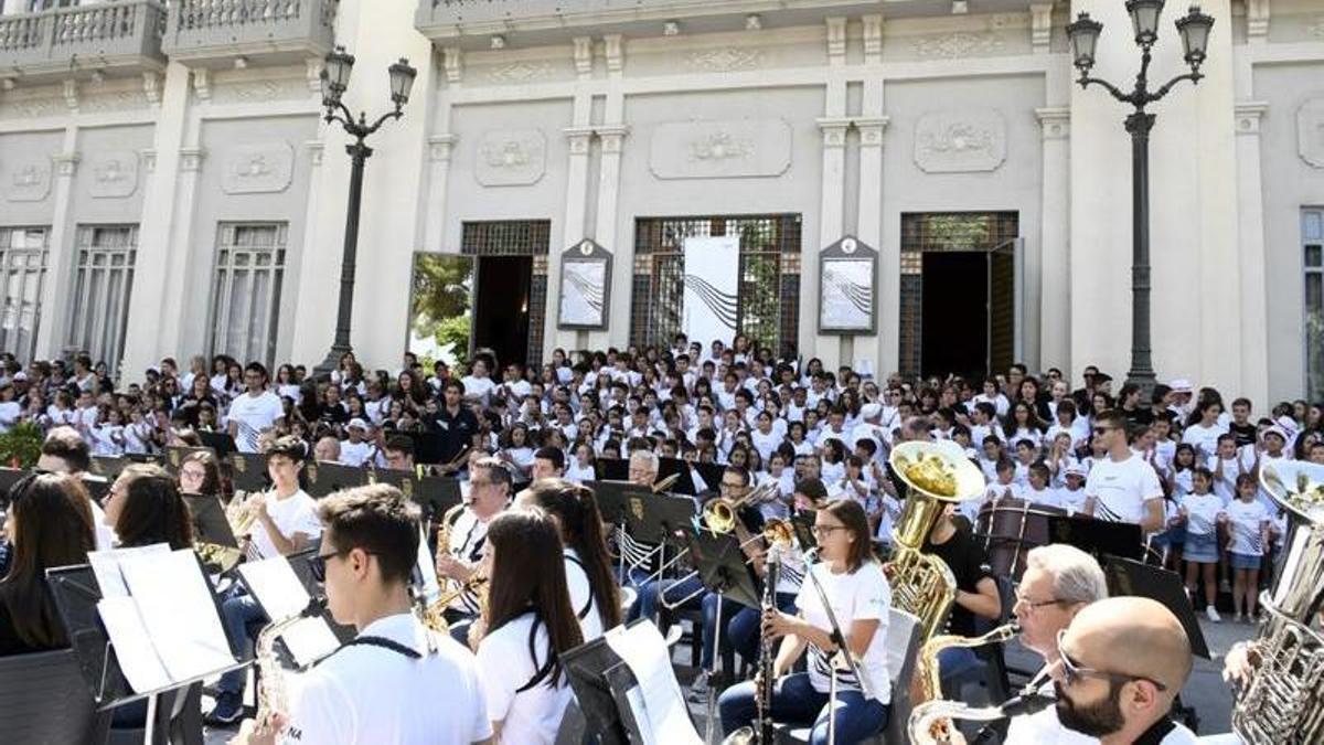
[[156, 0], [0, 16], [0, 77], [162, 69], [164, 23], [166, 9]]

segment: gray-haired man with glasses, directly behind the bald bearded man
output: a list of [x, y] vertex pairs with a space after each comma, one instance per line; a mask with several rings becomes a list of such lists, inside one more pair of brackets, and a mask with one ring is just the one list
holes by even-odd
[[[1021, 643], [1043, 656], [1046, 669], [1053, 667], [1058, 661], [1058, 634], [1086, 606], [1107, 597], [1103, 569], [1090, 554], [1066, 544], [1030, 549], [1012, 606], [1021, 627]], [[1043, 680], [1043, 684], [1051, 695], [1053, 681]], [[1057, 709], [1047, 708], [1029, 717], [1014, 717], [1006, 742], [1083, 745], [1098, 740], [1062, 726]]]

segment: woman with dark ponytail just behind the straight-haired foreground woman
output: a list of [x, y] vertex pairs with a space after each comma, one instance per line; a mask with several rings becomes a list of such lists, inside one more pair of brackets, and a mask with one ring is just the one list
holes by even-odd
[[564, 544], [565, 583], [584, 640], [621, 623], [621, 589], [602, 536], [602, 516], [588, 487], [564, 479], [539, 479], [519, 493], [522, 506], [536, 506], [556, 520]]

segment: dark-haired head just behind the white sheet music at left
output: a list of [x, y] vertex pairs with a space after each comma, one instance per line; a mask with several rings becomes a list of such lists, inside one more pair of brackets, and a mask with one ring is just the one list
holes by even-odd
[[120, 547], [169, 544], [193, 546], [193, 520], [175, 479], [159, 465], [134, 464], [115, 479], [106, 500], [106, 524]]

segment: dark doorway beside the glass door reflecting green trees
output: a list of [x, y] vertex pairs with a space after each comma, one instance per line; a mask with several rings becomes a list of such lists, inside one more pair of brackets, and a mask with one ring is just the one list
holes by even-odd
[[[528, 358], [528, 290], [532, 256], [478, 257], [474, 349], [489, 347], [499, 365]], [[493, 371], [499, 379], [499, 371]]]

